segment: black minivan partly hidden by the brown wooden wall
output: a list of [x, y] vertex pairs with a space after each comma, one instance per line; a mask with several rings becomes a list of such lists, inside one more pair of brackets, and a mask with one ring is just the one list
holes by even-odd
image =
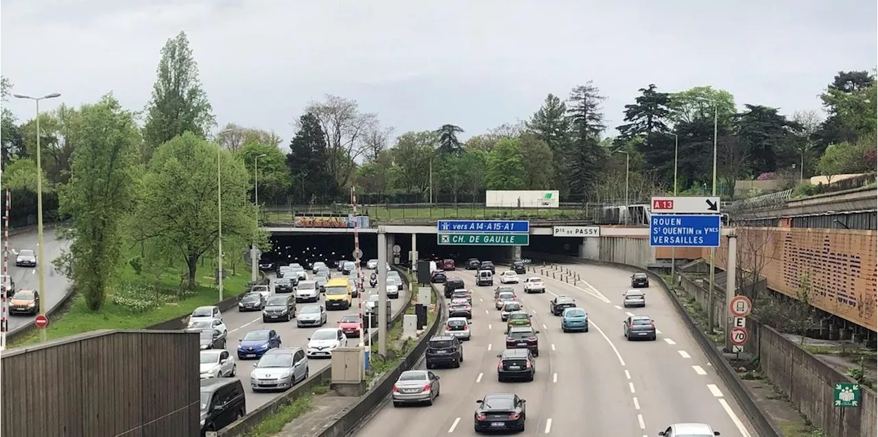
[[219, 431], [247, 412], [244, 386], [238, 378], [201, 380], [201, 435]]

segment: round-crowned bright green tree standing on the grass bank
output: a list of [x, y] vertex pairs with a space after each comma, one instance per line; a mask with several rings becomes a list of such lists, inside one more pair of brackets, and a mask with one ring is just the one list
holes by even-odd
[[140, 183], [140, 237], [148, 258], [181, 262], [188, 286], [196, 283], [198, 260], [215, 250], [218, 233], [217, 154], [222, 171], [222, 233], [228, 253], [255, 240], [266, 240], [249, 201], [247, 168], [227, 150], [184, 133], [155, 150]]

